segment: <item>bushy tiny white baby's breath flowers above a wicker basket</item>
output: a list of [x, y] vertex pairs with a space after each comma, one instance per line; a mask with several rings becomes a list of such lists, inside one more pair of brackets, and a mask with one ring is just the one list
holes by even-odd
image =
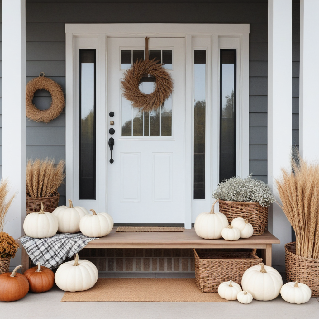
[[262, 207], [269, 206], [276, 201], [271, 188], [263, 181], [253, 179], [252, 174], [244, 179], [237, 176], [222, 181], [212, 195], [215, 199], [258, 203]]

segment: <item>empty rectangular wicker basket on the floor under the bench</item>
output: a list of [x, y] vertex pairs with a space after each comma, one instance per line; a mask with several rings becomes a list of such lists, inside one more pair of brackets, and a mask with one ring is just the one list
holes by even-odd
[[251, 266], [263, 261], [256, 256], [256, 249], [249, 251], [201, 252], [194, 249], [195, 282], [204, 293], [217, 292], [218, 286], [233, 280], [241, 284], [241, 277]]

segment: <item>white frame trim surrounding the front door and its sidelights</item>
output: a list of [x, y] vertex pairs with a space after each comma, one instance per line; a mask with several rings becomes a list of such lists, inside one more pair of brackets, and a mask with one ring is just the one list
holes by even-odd
[[[209, 47], [207, 72], [207, 101], [211, 108], [206, 115], [207, 123], [210, 123], [210, 131], [207, 131], [206, 145], [207, 171], [210, 172], [209, 194], [219, 183], [219, 49], [237, 49], [237, 141], [236, 145], [236, 174], [245, 177], [249, 174], [249, 24], [66, 24], [66, 198], [72, 198], [74, 205], [93, 208], [97, 211], [107, 209], [107, 92], [106, 92], [106, 55], [108, 37], [183, 37], [185, 38], [185, 226], [191, 227], [197, 213], [192, 214], [194, 201], [192, 196], [192, 131], [186, 128], [193, 127], [193, 103], [192, 103], [192, 49], [195, 38], [206, 38]], [[76, 52], [78, 44], [81, 48], [85, 43], [95, 43], [96, 48], [96, 111], [97, 111], [97, 153], [96, 153], [96, 200], [78, 199], [78, 147], [77, 132], [77, 79], [78, 68]], [[197, 45], [195, 45], [196, 47]], [[206, 46], [206, 45], [205, 45]], [[93, 48], [92, 47], [92, 48]], [[99, 136], [99, 139], [98, 139]], [[206, 192], [207, 193], [207, 192]], [[201, 209], [209, 210], [213, 199], [204, 200]], [[88, 207], [90, 206], [90, 207]]]

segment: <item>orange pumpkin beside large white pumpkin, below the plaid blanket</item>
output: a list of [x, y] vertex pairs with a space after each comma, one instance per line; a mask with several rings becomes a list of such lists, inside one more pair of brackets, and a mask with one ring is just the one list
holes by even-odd
[[33, 293], [43, 293], [53, 287], [54, 272], [47, 267], [41, 266], [40, 262], [37, 263], [37, 266], [26, 270], [24, 275], [28, 279], [30, 290]]

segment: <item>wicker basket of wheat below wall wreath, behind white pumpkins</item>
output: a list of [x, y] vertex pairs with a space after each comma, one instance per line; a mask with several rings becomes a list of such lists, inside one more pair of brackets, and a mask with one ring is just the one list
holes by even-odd
[[54, 159], [29, 160], [26, 166], [26, 212], [44, 210], [52, 213], [59, 204], [58, 187], [65, 177], [65, 161], [54, 165]]

